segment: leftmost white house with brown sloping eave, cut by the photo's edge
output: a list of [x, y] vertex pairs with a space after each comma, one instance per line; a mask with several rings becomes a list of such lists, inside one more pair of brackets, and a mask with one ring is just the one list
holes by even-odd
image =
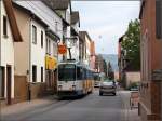
[[0, 102], [14, 100], [14, 44], [22, 38], [12, 11], [12, 2], [0, 1]]

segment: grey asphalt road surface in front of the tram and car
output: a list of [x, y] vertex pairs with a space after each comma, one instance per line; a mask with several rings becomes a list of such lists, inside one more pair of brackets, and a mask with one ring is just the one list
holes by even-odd
[[[18, 107], [17, 107], [18, 108]], [[78, 99], [2, 115], [2, 121], [124, 121], [121, 96], [99, 96], [98, 91]]]

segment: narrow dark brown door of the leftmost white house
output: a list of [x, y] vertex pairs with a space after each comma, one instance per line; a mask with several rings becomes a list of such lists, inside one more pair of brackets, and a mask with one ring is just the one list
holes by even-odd
[[11, 66], [6, 66], [6, 102], [10, 105], [11, 104], [11, 82], [12, 81], [12, 70]]

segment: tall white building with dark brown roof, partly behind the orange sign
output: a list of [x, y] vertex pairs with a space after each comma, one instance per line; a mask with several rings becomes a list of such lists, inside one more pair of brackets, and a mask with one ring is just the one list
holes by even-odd
[[[71, 1], [70, 0], [43, 0], [51, 9], [56, 11], [58, 15], [63, 18], [63, 39], [59, 44], [66, 44], [67, 41], [70, 41], [71, 38]], [[68, 53], [65, 55], [59, 55], [59, 62], [68, 59]]]

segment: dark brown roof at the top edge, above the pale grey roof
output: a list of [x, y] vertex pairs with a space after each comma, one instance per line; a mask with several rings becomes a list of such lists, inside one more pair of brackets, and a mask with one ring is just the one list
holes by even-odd
[[70, 0], [42, 0], [46, 5], [54, 10], [67, 10]]

